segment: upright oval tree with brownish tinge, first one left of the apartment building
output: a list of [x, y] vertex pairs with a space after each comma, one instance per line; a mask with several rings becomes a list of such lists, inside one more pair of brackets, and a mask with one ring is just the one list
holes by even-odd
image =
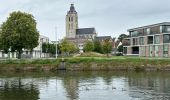
[[112, 51], [112, 43], [109, 39], [104, 40], [103, 43], [103, 52], [109, 56], [109, 53]]

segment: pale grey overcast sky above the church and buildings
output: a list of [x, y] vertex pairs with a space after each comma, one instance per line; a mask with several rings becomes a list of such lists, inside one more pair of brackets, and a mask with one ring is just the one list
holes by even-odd
[[74, 2], [79, 28], [95, 27], [98, 35], [118, 37], [127, 29], [170, 22], [170, 0], [0, 0], [0, 24], [12, 11], [33, 14], [40, 34], [65, 36], [65, 16]]

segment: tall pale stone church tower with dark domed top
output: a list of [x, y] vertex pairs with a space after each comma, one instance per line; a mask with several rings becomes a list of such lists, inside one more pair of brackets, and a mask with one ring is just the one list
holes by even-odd
[[66, 38], [75, 38], [76, 29], [78, 29], [78, 15], [74, 4], [71, 4], [66, 15]]

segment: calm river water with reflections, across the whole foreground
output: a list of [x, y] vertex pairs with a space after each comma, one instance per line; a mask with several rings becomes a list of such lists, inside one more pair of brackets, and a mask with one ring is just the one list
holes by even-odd
[[0, 100], [170, 100], [170, 73], [1, 72]]

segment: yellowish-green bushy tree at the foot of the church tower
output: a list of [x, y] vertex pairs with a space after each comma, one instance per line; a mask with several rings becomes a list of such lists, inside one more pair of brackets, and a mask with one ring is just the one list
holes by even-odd
[[72, 43], [63, 39], [60, 43], [60, 50], [62, 53], [69, 55], [70, 53], [74, 53], [77, 51], [77, 47]]

